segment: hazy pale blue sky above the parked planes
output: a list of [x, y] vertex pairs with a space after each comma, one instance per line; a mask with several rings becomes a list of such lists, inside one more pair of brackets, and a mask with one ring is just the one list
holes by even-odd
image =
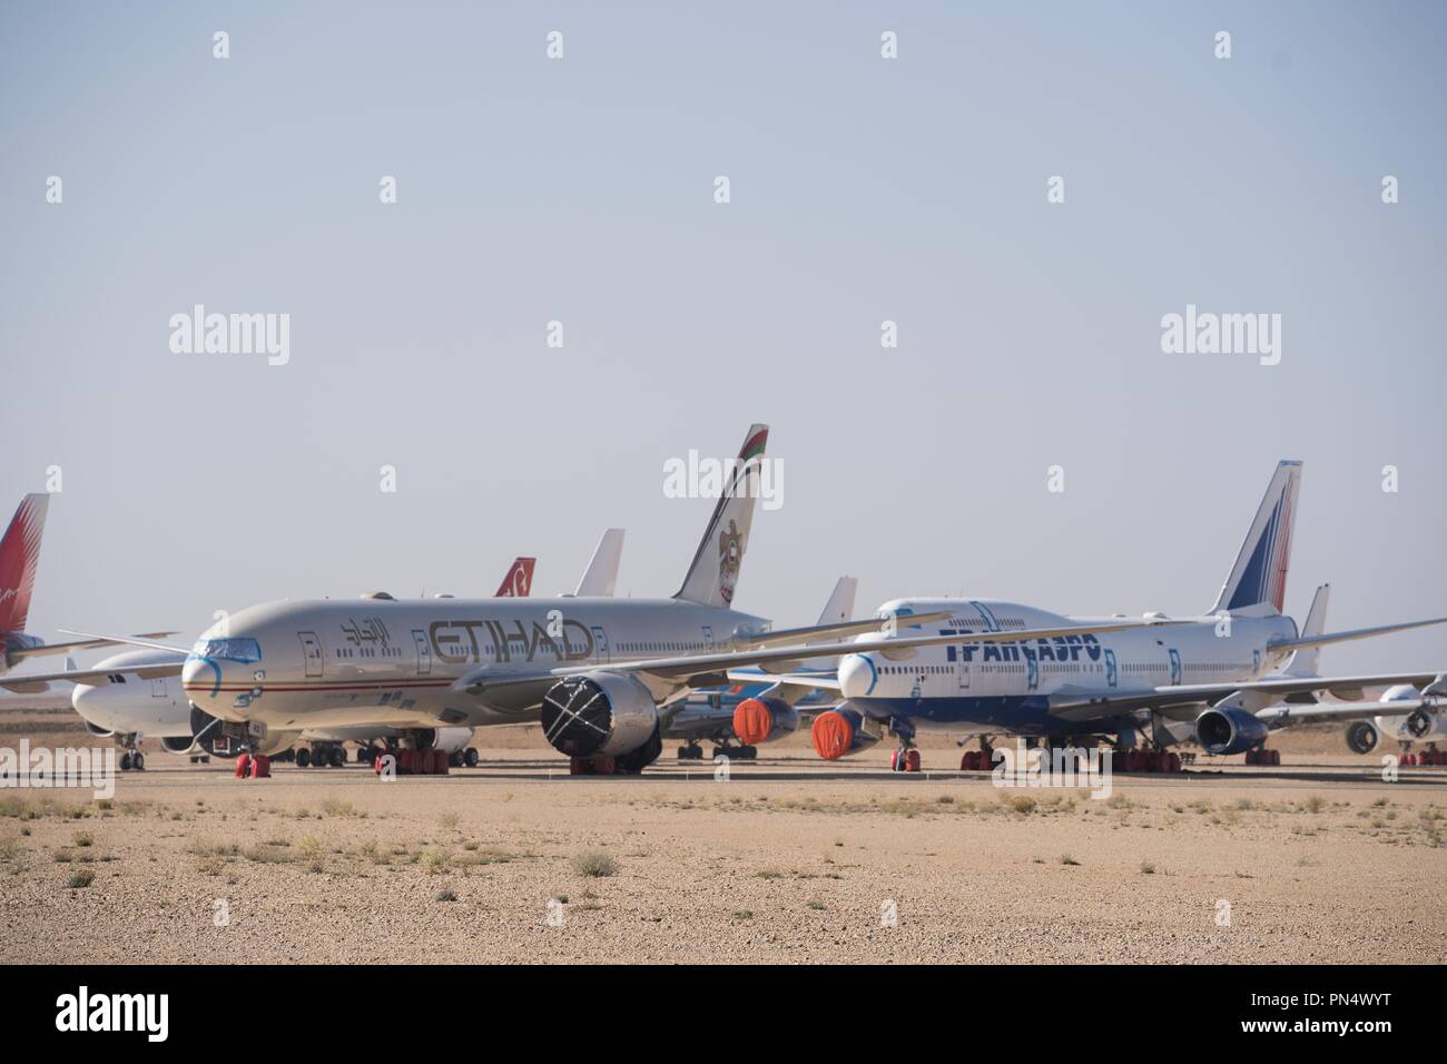
[[[663, 463], [751, 421], [784, 505], [737, 604], [781, 625], [844, 572], [1205, 609], [1281, 457], [1289, 612], [1447, 614], [1444, 51], [1435, 3], [12, 0], [0, 505], [64, 478], [30, 630], [491, 594], [518, 553], [556, 592], [611, 524], [669, 595], [710, 502]], [[289, 314], [289, 362], [172, 353], [198, 303]], [[1162, 353], [1188, 303], [1281, 314], [1281, 363]]]

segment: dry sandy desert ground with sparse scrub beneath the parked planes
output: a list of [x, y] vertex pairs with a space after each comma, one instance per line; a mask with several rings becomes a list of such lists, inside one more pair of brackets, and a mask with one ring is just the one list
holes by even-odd
[[[98, 746], [64, 704], [0, 746]], [[535, 727], [446, 777], [149, 748], [116, 793], [0, 790], [12, 963], [1447, 960], [1447, 770], [1278, 735], [1281, 767], [1001, 789], [796, 735], [735, 761], [569, 777]], [[1395, 748], [1395, 747], [1393, 747]]]

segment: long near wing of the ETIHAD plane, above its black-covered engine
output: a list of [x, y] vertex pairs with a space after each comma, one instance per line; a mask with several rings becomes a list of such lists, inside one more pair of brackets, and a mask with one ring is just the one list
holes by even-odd
[[[923, 617], [923, 615], [920, 615]], [[875, 618], [871, 624], [878, 625]], [[917, 621], [916, 621], [917, 622]], [[954, 646], [969, 643], [1019, 643], [1022, 640], [1051, 638], [1055, 636], [1085, 636], [1126, 628], [1153, 628], [1179, 624], [1178, 621], [1140, 620], [1113, 624], [1072, 624], [1061, 628], [1026, 628], [1022, 631], [972, 631], [968, 636], [897, 636], [893, 638], [868, 638], [852, 643], [810, 643], [807, 646], [758, 647], [729, 650], [712, 654], [682, 654], [676, 657], [650, 657], [634, 662], [593, 662], [589, 664], [567, 664], [535, 673], [501, 673], [493, 676], [495, 666], [485, 664], [463, 673], [451, 689], [475, 698], [486, 698], [489, 692], [527, 686], [544, 686], [566, 676], [582, 676], [592, 672], [609, 672], [637, 676], [657, 699], [670, 699], [689, 688], [716, 688], [728, 682], [728, 670], [757, 664], [764, 672], [793, 672], [810, 657], [835, 657], [839, 654], [864, 654], [884, 650], [910, 650], [915, 647]], [[774, 666], [774, 669], [770, 669]]]

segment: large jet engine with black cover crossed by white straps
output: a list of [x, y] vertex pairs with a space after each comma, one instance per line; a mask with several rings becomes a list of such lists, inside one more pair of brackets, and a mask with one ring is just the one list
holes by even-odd
[[[543, 734], [569, 757], [663, 750], [653, 693], [632, 676], [608, 672], [569, 676], [548, 688], [543, 698]], [[657, 751], [644, 764], [657, 759]]]

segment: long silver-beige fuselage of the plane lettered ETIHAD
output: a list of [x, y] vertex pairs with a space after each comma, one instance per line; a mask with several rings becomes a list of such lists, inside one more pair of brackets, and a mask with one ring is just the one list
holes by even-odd
[[463, 676], [722, 651], [764, 618], [683, 599], [323, 599], [232, 614], [182, 670], [197, 706], [268, 731], [347, 725], [478, 727], [537, 719], [553, 679], [489, 692]]

